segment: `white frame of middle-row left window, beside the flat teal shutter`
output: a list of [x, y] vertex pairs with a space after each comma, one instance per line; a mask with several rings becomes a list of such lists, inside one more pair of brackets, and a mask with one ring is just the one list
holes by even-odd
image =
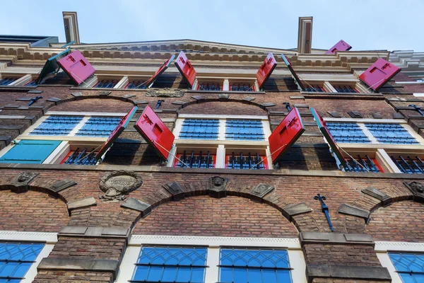
[[[90, 117], [124, 117], [127, 113], [120, 112], [110, 112], [110, 113], [102, 113], [102, 112], [64, 112], [64, 111], [49, 111], [43, 117], [41, 117], [34, 125], [28, 127], [22, 134], [20, 134], [14, 142], [19, 142], [23, 139], [25, 140], [42, 140], [42, 141], [62, 141], [59, 146], [57, 146], [54, 151], [43, 161], [42, 164], [59, 164], [70, 151], [76, 149], [76, 147], [90, 147], [97, 148], [107, 141], [107, 137], [81, 137], [75, 136], [78, 129], [81, 129], [83, 125], [90, 119]], [[76, 127], [73, 128], [71, 133], [66, 136], [33, 136], [30, 135], [30, 132], [33, 132], [35, 128], [41, 125], [42, 122], [45, 122], [50, 116], [83, 116], [83, 120], [79, 122]], [[13, 143], [6, 146], [4, 149], [0, 150], [0, 157], [6, 154], [9, 150], [12, 149]]]

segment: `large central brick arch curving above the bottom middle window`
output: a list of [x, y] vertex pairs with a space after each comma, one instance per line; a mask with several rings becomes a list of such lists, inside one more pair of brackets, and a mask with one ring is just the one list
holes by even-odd
[[[175, 182], [176, 183], [176, 182]], [[174, 183], [174, 184], [175, 184]], [[305, 227], [308, 231], [317, 231], [318, 227], [314, 221], [308, 221], [310, 216], [308, 212], [312, 212], [312, 209], [308, 209], [307, 205], [304, 203], [293, 204], [285, 202], [280, 194], [278, 194], [275, 189], [266, 195], [257, 195], [254, 193], [255, 185], [247, 185], [243, 183], [232, 183], [230, 180], [226, 186], [225, 192], [216, 192], [216, 190], [211, 189], [211, 185], [208, 182], [193, 182], [193, 183], [177, 183], [177, 190], [170, 192], [164, 187], [160, 187], [154, 192], [150, 192], [148, 195], [143, 195], [137, 199], [130, 199], [126, 203], [122, 204], [122, 207], [133, 208], [131, 204], [134, 202], [141, 201], [148, 208], [140, 209], [141, 212], [136, 216], [134, 221], [131, 224], [131, 227], [134, 227], [141, 218], [147, 216], [153, 209], [156, 209], [160, 204], [165, 204], [167, 202], [184, 200], [187, 197], [195, 197], [199, 195], [209, 195], [210, 197], [223, 198], [227, 196], [243, 197], [261, 204], [267, 204], [273, 209], [278, 210], [289, 222], [292, 222], [298, 231], [302, 231]], [[294, 212], [298, 209], [297, 212]], [[124, 209], [126, 210], [126, 209]], [[153, 210], [154, 211], [154, 210]]]

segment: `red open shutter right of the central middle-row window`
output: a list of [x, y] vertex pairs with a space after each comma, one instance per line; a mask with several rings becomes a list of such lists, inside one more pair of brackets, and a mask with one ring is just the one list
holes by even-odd
[[298, 109], [293, 108], [268, 138], [272, 163], [276, 163], [303, 132], [305, 132], [305, 127], [302, 117], [300, 117]]

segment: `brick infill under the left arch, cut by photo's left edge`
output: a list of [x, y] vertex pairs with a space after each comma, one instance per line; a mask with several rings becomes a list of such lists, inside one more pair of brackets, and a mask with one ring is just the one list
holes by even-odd
[[59, 232], [69, 221], [61, 200], [43, 192], [0, 191], [0, 230]]

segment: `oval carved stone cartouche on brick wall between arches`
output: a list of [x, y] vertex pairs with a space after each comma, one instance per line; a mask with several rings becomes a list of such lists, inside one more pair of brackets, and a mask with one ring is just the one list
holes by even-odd
[[103, 176], [99, 181], [99, 188], [105, 195], [100, 200], [126, 200], [129, 192], [137, 190], [143, 185], [143, 178], [133, 171], [114, 171]]

